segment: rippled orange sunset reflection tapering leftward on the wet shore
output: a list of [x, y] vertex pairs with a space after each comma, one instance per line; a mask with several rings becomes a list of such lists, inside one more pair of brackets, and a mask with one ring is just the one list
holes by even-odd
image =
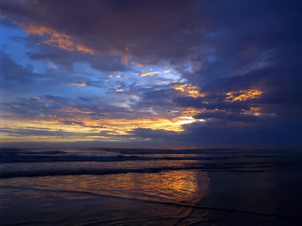
[[209, 182], [208, 174], [204, 171], [14, 178], [6, 181], [8, 185], [17, 183], [35, 187], [37, 191], [41, 189], [47, 192], [50, 189], [52, 192], [67, 192], [68, 199], [77, 198], [78, 195], [81, 198], [83, 194], [91, 193], [187, 204], [201, 200], [207, 193]]

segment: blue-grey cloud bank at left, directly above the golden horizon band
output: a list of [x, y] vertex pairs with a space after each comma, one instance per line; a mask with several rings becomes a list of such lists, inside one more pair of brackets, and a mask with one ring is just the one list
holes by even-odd
[[[78, 98], [77, 98], [78, 99]], [[110, 106], [98, 100], [83, 102], [77, 99], [69, 99], [59, 96], [44, 95], [33, 98], [15, 98], [11, 102], [2, 103], [2, 112], [10, 113], [1, 115], [4, 120], [42, 120], [55, 121], [63, 124], [76, 124], [87, 126], [81, 119], [100, 120], [120, 117], [132, 117], [128, 109], [123, 107]], [[87, 126], [90, 127], [90, 126]], [[92, 128], [104, 128], [97, 125]]]

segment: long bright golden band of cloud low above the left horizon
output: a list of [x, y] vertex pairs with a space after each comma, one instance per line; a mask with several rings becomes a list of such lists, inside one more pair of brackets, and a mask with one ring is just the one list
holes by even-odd
[[[148, 129], [165, 129], [168, 131], [181, 132], [183, 128], [181, 125], [192, 123], [195, 121], [193, 118], [144, 118], [144, 119], [119, 119], [119, 118], [104, 118], [102, 120], [92, 119], [89, 115], [77, 119], [72, 118], [75, 112], [69, 112], [70, 116], [64, 119], [53, 115], [47, 119], [33, 119], [25, 121], [22, 119], [14, 119], [10, 123], [10, 127], [14, 128], [14, 134], [0, 134], [0, 137], [5, 137], [6, 142], [19, 141], [43, 141], [48, 140], [51, 142], [65, 141], [80, 141], [80, 140], [106, 140], [106, 141], [119, 141], [130, 140], [128, 137], [132, 129], [148, 128]], [[78, 113], [78, 112], [77, 112]], [[85, 112], [86, 113], [86, 112]], [[20, 131], [26, 132], [34, 129], [36, 131], [46, 131], [48, 135], [19, 135]], [[61, 134], [64, 133], [64, 134]], [[21, 134], [21, 133], [20, 133]]]

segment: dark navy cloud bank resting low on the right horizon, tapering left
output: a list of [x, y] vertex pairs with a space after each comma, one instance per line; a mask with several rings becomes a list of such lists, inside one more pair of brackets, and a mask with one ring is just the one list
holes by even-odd
[[221, 124], [221, 122], [195, 122], [184, 125], [183, 132], [164, 129], [137, 128], [129, 132], [144, 139], [165, 140], [166, 143], [188, 143], [196, 146], [213, 145], [269, 145], [298, 144], [302, 135], [301, 127], [284, 127], [283, 123], [264, 123], [242, 126]]

